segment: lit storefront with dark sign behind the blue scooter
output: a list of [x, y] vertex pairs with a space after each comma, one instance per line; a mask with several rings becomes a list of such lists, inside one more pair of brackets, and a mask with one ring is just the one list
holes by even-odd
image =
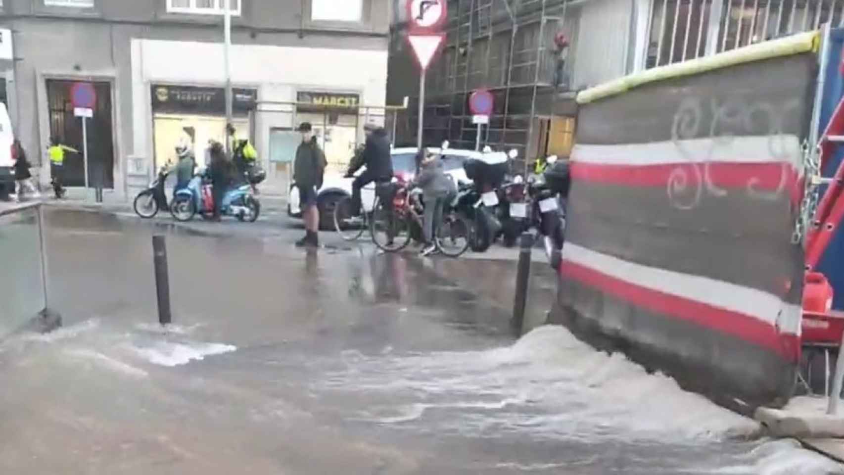
[[[153, 84], [151, 97], [155, 169], [175, 161], [180, 143], [192, 149], [197, 165], [207, 165], [208, 142], [225, 143], [225, 89]], [[237, 137], [252, 140], [257, 89], [235, 88], [232, 100]]]

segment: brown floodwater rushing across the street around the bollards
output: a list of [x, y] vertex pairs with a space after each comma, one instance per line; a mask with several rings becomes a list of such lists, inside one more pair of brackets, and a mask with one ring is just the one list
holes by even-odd
[[414, 257], [48, 214], [65, 327], [0, 344], [2, 473], [844, 472]]

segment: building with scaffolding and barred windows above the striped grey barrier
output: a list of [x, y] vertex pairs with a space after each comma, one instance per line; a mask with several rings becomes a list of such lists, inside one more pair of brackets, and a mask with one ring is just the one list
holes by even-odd
[[[405, 40], [407, 2], [393, 1], [387, 91], [398, 100], [418, 96], [419, 69]], [[495, 111], [480, 143], [518, 148], [525, 165], [571, 149], [580, 89], [844, 20], [844, 2], [829, 0], [441, 1], [446, 46], [428, 72], [425, 143], [473, 148], [468, 96], [488, 89]], [[416, 103], [399, 121], [400, 141], [415, 142]]]

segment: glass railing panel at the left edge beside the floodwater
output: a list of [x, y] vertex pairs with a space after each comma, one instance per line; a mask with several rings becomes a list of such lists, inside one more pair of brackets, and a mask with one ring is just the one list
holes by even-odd
[[46, 275], [41, 203], [0, 208], [0, 339], [49, 316]]

